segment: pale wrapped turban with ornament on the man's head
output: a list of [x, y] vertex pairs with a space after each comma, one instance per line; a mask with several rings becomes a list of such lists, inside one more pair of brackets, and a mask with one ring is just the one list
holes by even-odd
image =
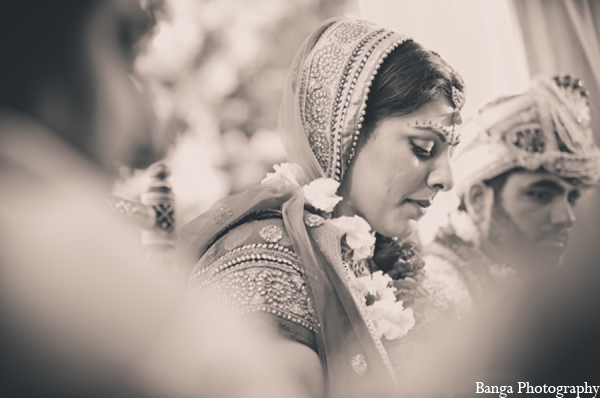
[[600, 178], [600, 149], [579, 79], [538, 77], [520, 95], [481, 108], [461, 127], [453, 171], [460, 195], [513, 168], [543, 169], [584, 184]]

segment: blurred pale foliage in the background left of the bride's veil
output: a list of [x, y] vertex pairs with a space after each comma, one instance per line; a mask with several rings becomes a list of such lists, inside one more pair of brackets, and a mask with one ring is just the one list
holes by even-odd
[[[149, 0], [157, 18], [136, 74], [156, 114], [179, 226], [285, 161], [277, 133], [288, 68], [322, 21], [360, 16], [356, 0]], [[123, 170], [115, 192], [147, 183]]]

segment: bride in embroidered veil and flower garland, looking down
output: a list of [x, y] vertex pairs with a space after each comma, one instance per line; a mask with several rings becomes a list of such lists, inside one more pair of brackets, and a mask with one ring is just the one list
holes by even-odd
[[285, 87], [290, 163], [181, 230], [176, 261], [191, 289], [275, 325], [281, 366], [309, 395], [394, 390], [383, 342], [415, 325], [407, 286], [422, 268], [398, 242], [452, 187], [463, 93], [461, 77], [411, 39], [329, 20]]

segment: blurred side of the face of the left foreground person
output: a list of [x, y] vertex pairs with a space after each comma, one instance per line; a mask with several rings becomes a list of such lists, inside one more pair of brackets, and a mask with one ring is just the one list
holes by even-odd
[[149, 107], [131, 77], [134, 46], [147, 29], [139, 2], [101, 1], [87, 26], [94, 157], [107, 169], [146, 167], [161, 154], [152, 142]]

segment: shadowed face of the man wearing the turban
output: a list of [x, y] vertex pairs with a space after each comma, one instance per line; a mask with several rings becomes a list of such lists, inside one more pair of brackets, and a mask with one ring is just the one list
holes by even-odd
[[494, 200], [488, 240], [517, 253], [526, 266], [548, 269], [566, 248], [580, 195], [574, 185], [550, 173], [514, 172]]

